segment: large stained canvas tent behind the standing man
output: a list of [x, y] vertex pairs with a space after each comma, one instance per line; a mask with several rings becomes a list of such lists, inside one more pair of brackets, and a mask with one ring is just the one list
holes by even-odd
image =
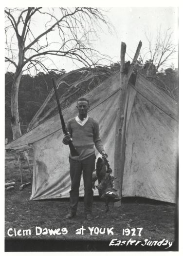
[[[114, 167], [114, 137], [120, 74], [91, 90], [89, 116], [99, 122], [100, 137]], [[128, 82], [127, 129], [123, 197], [147, 197], [176, 202], [178, 163], [178, 103], [155, 84], [138, 74]], [[76, 102], [63, 110], [65, 121], [77, 115]], [[31, 199], [69, 197], [69, 147], [62, 143], [59, 114], [49, 118], [6, 149], [34, 148]], [[96, 152], [97, 157], [99, 156]], [[82, 179], [81, 179], [82, 180]], [[81, 181], [79, 195], [84, 195]], [[98, 195], [98, 190], [94, 190]]]

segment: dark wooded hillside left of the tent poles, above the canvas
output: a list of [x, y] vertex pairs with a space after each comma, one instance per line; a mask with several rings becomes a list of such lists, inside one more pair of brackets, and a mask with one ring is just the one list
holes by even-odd
[[[51, 70], [47, 74], [40, 72], [35, 77], [30, 76], [29, 74], [22, 75], [18, 94], [19, 121], [21, 132], [25, 133], [27, 131], [28, 124], [35, 116], [38, 109], [42, 106], [50, 91], [53, 89], [53, 77], [55, 77], [57, 80], [60, 79], [65, 81], [65, 84], [61, 84], [58, 88], [59, 97], [63, 96], [68, 91], [68, 87], [70, 88], [73, 83], [78, 83], [78, 87], [73, 87], [71, 94], [80, 88], [78, 92], [76, 92], [73, 96], [69, 97], [61, 104], [61, 107], [64, 108], [71, 104], [76, 98], [92, 90], [99, 83], [110, 77], [119, 69], [119, 67], [119, 64], [111, 65], [111, 67], [98, 66], [94, 70], [85, 69], [78, 72], [69, 72], [68, 76], [66, 76], [67, 73], [65, 70]], [[96, 76], [94, 76], [95, 73]], [[89, 75], [90, 79], [85, 79]], [[13, 83], [12, 76], [13, 74], [9, 72], [5, 74], [5, 138], [8, 138], [8, 140], [12, 140], [13, 138], [11, 131], [11, 86]], [[62, 79], [62, 77], [65, 78]], [[52, 109], [54, 104], [55, 95], [53, 95], [52, 99], [46, 104], [43, 113], [39, 117], [41, 121], [57, 113], [58, 110], [57, 107], [55, 107], [53, 108], [53, 111], [51, 111], [49, 115], [46, 116], [46, 118], [44, 117], [45, 114], [50, 111], [50, 109]]]

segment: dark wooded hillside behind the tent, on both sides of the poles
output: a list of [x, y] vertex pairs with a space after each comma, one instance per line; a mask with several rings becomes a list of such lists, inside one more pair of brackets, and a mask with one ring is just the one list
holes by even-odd
[[[98, 66], [98, 68], [100, 67]], [[138, 72], [144, 72], [143, 65], [140, 60], [137, 61], [135, 69], [137, 69]], [[120, 64], [114, 63], [110, 67], [106, 67], [106, 70], [111, 72], [109, 73], [109, 76], [111, 76], [116, 71], [120, 70]], [[73, 82], [78, 82], [86, 77], [90, 72], [91, 71], [89, 70], [84, 70], [71, 73], [64, 80], [67, 82], [67, 84], [71, 85]], [[28, 124], [52, 90], [53, 85], [51, 78], [56, 77], [56, 79], [62, 79], [63, 75], [65, 74], [67, 74], [65, 70], [51, 70], [48, 74], [39, 73], [35, 77], [32, 77], [28, 74], [22, 76], [20, 80], [20, 89], [18, 95], [19, 120], [22, 133], [27, 131]], [[11, 86], [13, 83], [12, 75], [13, 74], [10, 72], [5, 74], [5, 138], [8, 138], [8, 140], [12, 140], [13, 138], [11, 131]], [[93, 77], [92, 81], [90, 79], [80, 83], [79, 88], [82, 90], [63, 102], [61, 107], [64, 108], [71, 104], [76, 98], [85, 94], [87, 91], [91, 90], [105, 79], [107, 79], [107, 77], [98, 74], [96, 77]], [[156, 79], [154, 78], [152, 81], [155, 82], [159, 88], [164, 90], [167, 94], [178, 101], [178, 70], [173, 70], [172, 68], [165, 69], [165, 71], [161, 71], [156, 74]], [[58, 89], [58, 95], [61, 97], [67, 91], [67, 89], [68, 86], [62, 84]], [[77, 88], [73, 88], [72, 93], [76, 90]], [[42, 116], [52, 107], [53, 103], [55, 103], [55, 96], [53, 96], [52, 100], [46, 105]], [[55, 108], [47, 118], [54, 115], [55, 113], [57, 113], [57, 108]]]

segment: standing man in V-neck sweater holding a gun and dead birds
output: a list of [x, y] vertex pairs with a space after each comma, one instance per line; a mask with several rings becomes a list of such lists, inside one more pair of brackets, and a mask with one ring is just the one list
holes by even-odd
[[81, 173], [83, 171], [84, 211], [86, 218], [91, 220], [93, 198], [92, 172], [95, 169], [96, 159], [93, 146], [95, 145], [98, 152], [104, 158], [108, 156], [104, 151], [102, 140], [99, 136], [99, 125], [93, 118], [88, 116], [89, 100], [82, 97], [78, 98], [76, 107], [78, 109], [78, 116], [67, 122], [66, 129], [69, 134], [63, 138], [65, 145], [72, 138], [73, 145], [79, 153], [79, 157], [72, 157], [71, 154], [69, 156], [71, 176], [70, 212], [66, 218], [71, 219], [76, 215]]

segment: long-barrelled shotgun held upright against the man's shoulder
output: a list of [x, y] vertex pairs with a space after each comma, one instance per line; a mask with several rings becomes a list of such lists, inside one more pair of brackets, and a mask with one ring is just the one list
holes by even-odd
[[[58, 111], [59, 111], [60, 121], [61, 121], [61, 125], [62, 125], [62, 131], [63, 131], [64, 135], [68, 135], [67, 130], [66, 130], [66, 125], [65, 125], [64, 117], [62, 115], [62, 111], [61, 111], [61, 107], [60, 107], [60, 102], [59, 102], [59, 99], [58, 99], [58, 94], [57, 94], [57, 90], [56, 90], [55, 80], [52, 79], [52, 81], [53, 81], [53, 85], [54, 85], [56, 102], [57, 102], [57, 105], [58, 105]], [[75, 149], [75, 147], [73, 145], [73, 141], [70, 139], [68, 143], [69, 143], [69, 148], [70, 148], [72, 157], [79, 156], [77, 150]]]

